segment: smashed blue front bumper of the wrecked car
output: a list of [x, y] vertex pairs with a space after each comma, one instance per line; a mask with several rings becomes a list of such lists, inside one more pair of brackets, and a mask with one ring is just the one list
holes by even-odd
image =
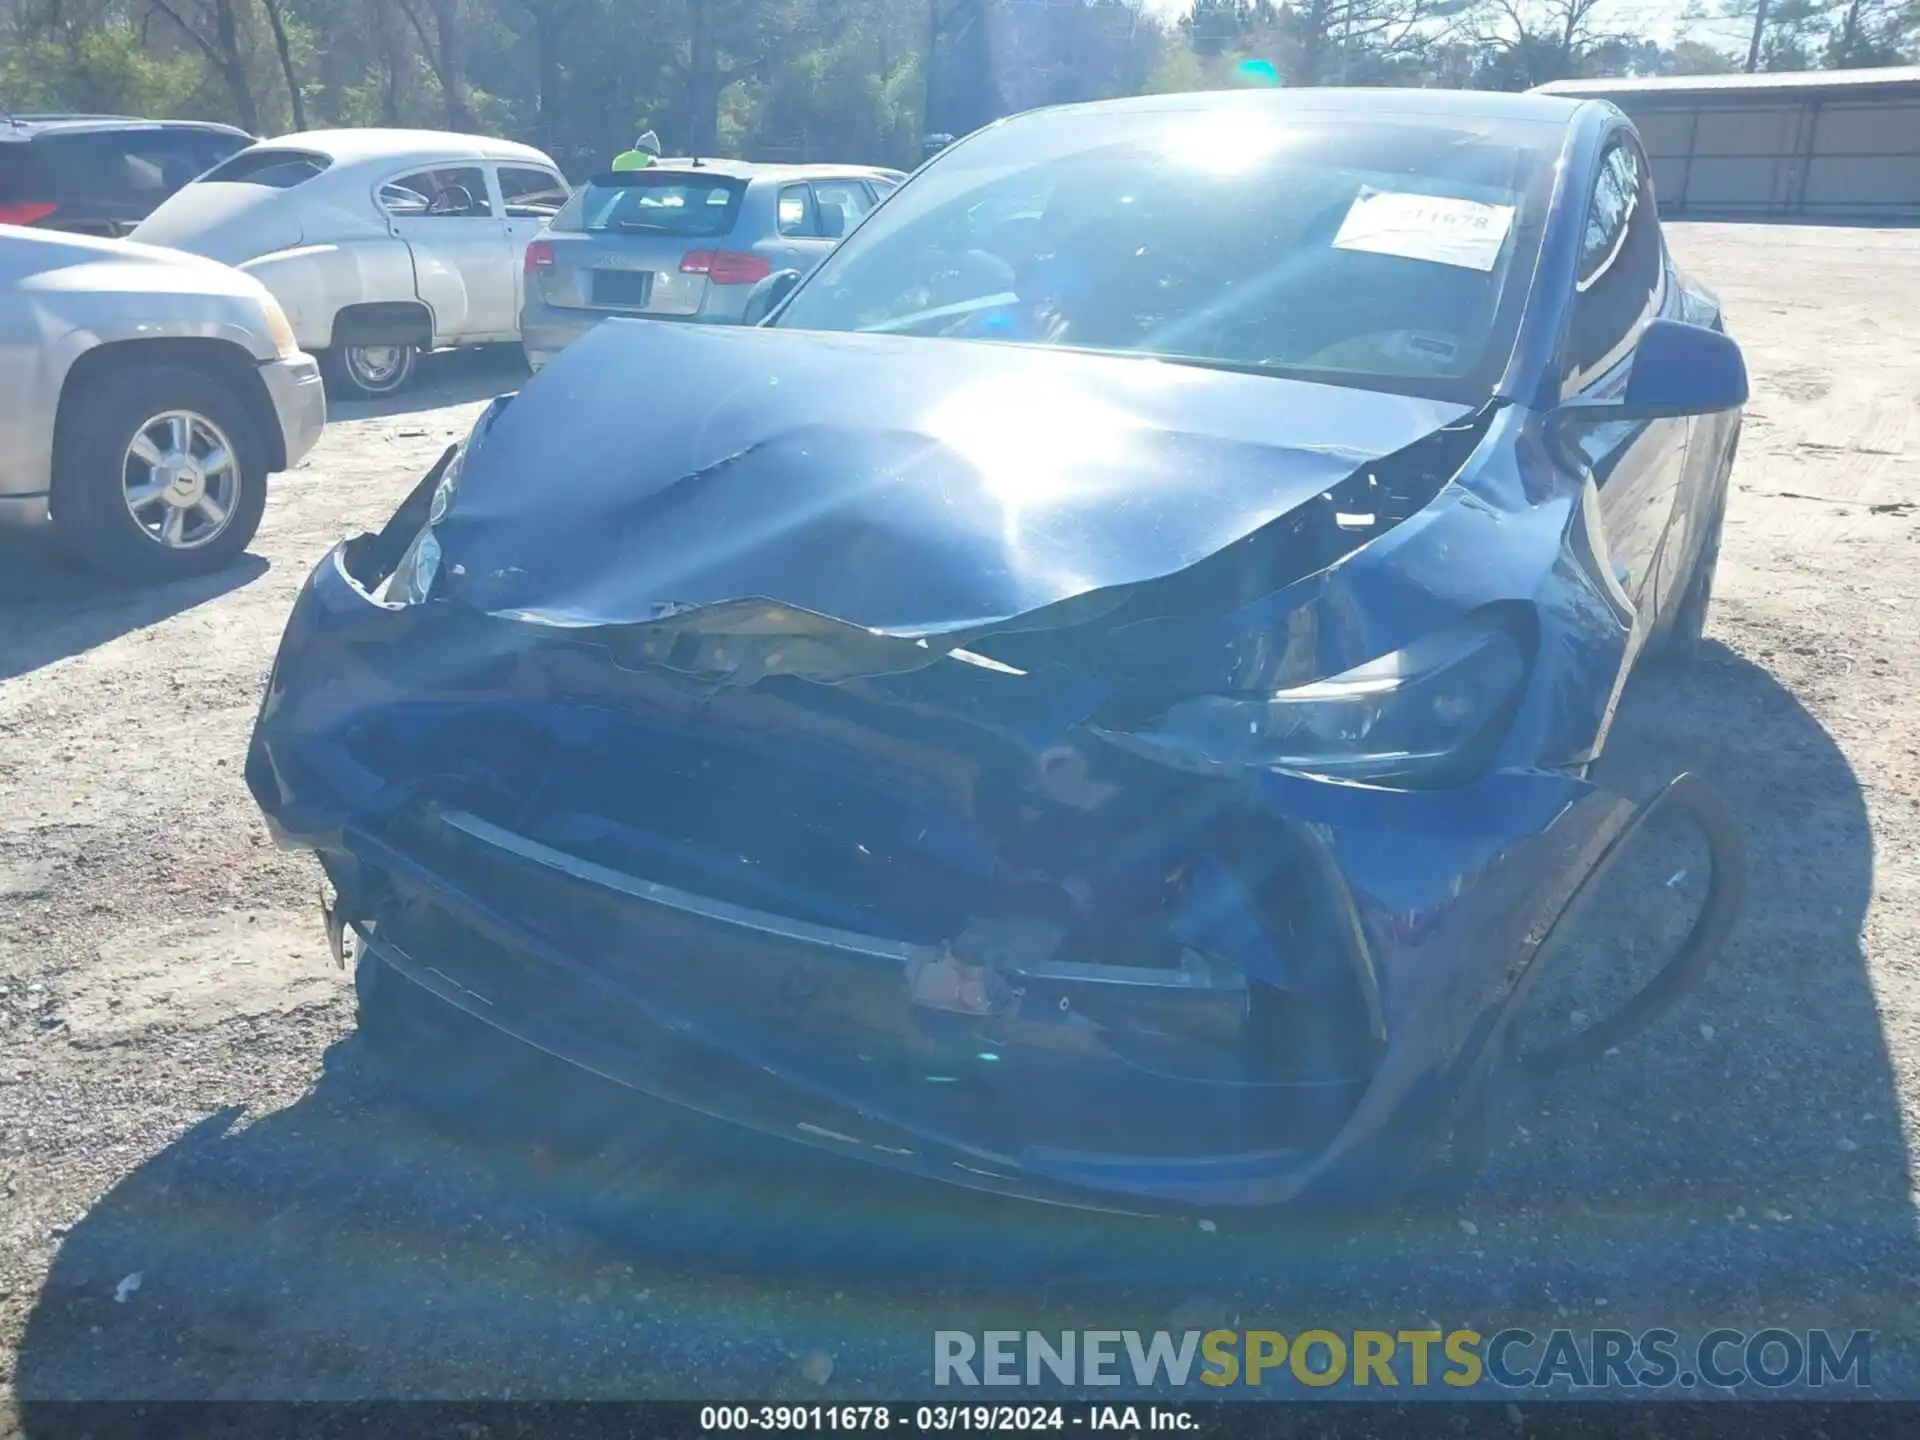
[[[276, 837], [319, 852], [365, 948], [647, 1094], [1029, 1198], [1254, 1206], [1402, 1187], [1478, 1096], [1555, 925], [1636, 814], [1544, 772], [1446, 791], [1244, 772], [1181, 780], [1146, 829], [1100, 820], [1094, 849], [1140, 877], [1173, 852], [1187, 864], [1206, 851], [1192, 837], [1231, 820], [1242, 860], [1292, 897], [1279, 973], [1202, 947], [1102, 964], [1020, 925], [795, 918], [741, 899], [739, 868], [701, 883], [684, 847], [609, 862], [637, 851], [614, 814], [622, 764], [605, 756], [630, 770], [674, 756], [660, 785], [747, 785], [764, 751], [716, 770], [712, 735], [747, 733], [766, 701], [732, 691], [680, 732], [622, 730], [659, 701], [649, 676], [564, 634], [447, 609], [371, 605], [330, 555], [288, 624], [248, 756]], [[774, 733], [776, 751], [793, 743]], [[922, 814], [889, 874], [939, 908], [941, 885], [973, 883], [964, 866], [945, 879], [910, 866], [970, 837], [931, 835], [933, 810], [912, 810], [914, 780], [889, 770], [906, 751], [876, 749], [868, 776], [810, 772], [778, 799], [764, 787], [789, 780], [766, 770], [739, 847], [753, 814], [868, 839]], [[891, 829], [860, 831], [883, 804]], [[1062, 849], [1073, 839], [1062, 831]], [[860, 914], [885, 908], [881, 895]]]

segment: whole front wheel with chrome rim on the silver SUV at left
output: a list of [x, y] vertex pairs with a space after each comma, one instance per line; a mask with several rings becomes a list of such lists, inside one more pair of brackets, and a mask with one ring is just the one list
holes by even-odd
[[96, 570], [152, 584], [225, 568], [265, 509], [265, 445], [219, 378], [136, 365], [65, 403], [54, 526]]

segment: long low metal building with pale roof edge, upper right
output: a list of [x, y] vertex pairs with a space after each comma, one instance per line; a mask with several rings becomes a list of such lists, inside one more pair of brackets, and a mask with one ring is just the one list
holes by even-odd
[[1661, 215], [1920, 219], [1920, 65], [1540, 88], [1626, 111]]

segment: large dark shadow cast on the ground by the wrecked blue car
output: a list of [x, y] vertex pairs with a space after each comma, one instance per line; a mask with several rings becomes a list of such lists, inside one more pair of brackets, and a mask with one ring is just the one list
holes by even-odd
[[[54, 1398], [927, 1394], [935, 1329], [1872, 1329], [1876, 1390], [1912, 1394], [1860, 787], [1718, 647], [1636, 682], [1609, 751], [1620, 789], [1682, 768], [1749, 837], [1728, 954], [1619, 1054], [1505, 1094], [1465, 1198], [1313, 1223], [1021, 1206], [545, 1062], [515, 1104], [434, 1125], [348, 1037], [300, 1102], [211, 1116], [65, 1235], [19, 1348], [25, 1434]], [[551, 1144], [563, 1119], [599, 1140]]]

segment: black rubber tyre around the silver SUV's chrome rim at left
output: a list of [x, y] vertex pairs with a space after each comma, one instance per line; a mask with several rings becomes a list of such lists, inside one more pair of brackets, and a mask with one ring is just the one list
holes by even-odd
[[[129, 474], [138, 465], [131, 447], [150, 422], [169, 413], [209, 422], [234, 461], [225, 522], [190, 547], [163, 543], [129, 509]], [[90, 378], [65, 401], [54, 447], [52, 509], [60, 541], [108, 576], [161, 584], [211, 574], [232, 564], [259, 530], [267, 509], [267, 447], [246, 401], [219, 376], [182, 365], [129, 365]], [[198, 511], [194, 522], [211, 524]]]

